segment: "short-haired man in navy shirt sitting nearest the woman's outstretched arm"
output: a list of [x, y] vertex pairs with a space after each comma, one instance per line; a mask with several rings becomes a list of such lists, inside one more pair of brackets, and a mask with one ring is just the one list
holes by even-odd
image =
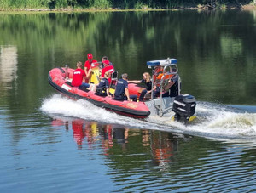
[[113, 99], [117, 99], [117, 100], [133, 100], [133, 101], [137, 101], [137, 95], [129, 94], [129, 90], [128, 90], [128, 75], [122, 74], [122, 78], [119, 79], [119, 81], [116, 84], [115, 87], [115, 91], [113, 94]]

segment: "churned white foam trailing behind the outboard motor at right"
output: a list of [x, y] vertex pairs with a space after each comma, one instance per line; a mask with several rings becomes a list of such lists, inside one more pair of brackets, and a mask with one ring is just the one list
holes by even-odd
[[198, 103], [198, 121], [189, 130], [228, 138], [256, 138], [256, 114], [226, 105]]

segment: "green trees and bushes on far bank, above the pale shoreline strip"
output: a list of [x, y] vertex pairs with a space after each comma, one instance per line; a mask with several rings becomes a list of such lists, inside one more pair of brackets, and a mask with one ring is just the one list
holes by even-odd
[[208, 6], [241, 7], [256, 0], [0, 0], [0, 9], [179, 9]]

